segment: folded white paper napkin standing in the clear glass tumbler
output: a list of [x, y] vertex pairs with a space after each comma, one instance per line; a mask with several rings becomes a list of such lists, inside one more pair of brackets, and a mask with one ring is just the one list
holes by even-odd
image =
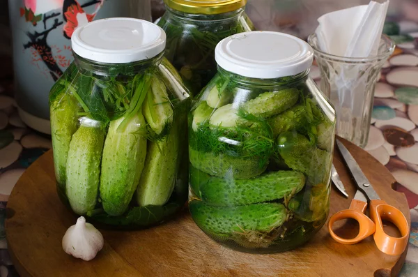
[[377, 0], [319, 17], [320, 50], [343, 57], [376, 55], [388, 6], [389, 0]]

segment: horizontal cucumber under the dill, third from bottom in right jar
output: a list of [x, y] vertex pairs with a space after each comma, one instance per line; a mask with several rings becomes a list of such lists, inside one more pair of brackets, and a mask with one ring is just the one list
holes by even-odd
[[248, 179], [263, 173], [267, 164], [261, 166], [261, 159], [257, 157], [242, 158], [196, 151], [189, 147], [189, 160], [196, 169], [217, 177]]

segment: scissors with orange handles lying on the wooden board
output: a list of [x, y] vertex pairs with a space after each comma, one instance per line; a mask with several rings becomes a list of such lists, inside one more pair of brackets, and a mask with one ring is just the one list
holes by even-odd
[[[355, 179], [357, 192], [348, 209], [339, 211], [331, 216], [328, 222], [328, 230], [331, 237], [341, 244], [357, 244], [357, 242], [373, 234], [376, 246], [378, 246], [380, 251], [388, 255], [402, 254], [409, 239], [410, 226], [408, 220], [406, 220], [401, 211], [387, 204], [384, 200], [380, 200], [376, 190], [373, 189], [370, 181], [363, 174], [350, 152], [339, 140], [336, 140], [336, 145]], [[364, 214], [368, 200], [370, 218]], [[359, 234], [354, 239], [343, 239], [332, 230], [332, 225], [336, 221], [347, 218], [353, 218], [359, 223]], [[389, 234], [386, 234], [382, 220], [394, 223], [401, 232], [401, 237], [391, 237]]]

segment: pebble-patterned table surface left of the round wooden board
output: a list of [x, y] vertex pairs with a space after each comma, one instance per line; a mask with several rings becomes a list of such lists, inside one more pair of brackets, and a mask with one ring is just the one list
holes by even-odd
[[0, 82], [0, 277], [19, 276], [4, 230], [8, 197], [26, 168], [51, 147], [50, 137], [26, 127], [17, 114], [12, 80]]

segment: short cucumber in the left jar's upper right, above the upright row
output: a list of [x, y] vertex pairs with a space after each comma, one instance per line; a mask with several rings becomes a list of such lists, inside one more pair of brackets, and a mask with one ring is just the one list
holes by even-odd
[[150, 128], [160, 135], [173, 121], [173, 108], [163, 82], [157, 77], [151, 81], [151, 89], [146, 93], [143, 110], [144, 117]]

